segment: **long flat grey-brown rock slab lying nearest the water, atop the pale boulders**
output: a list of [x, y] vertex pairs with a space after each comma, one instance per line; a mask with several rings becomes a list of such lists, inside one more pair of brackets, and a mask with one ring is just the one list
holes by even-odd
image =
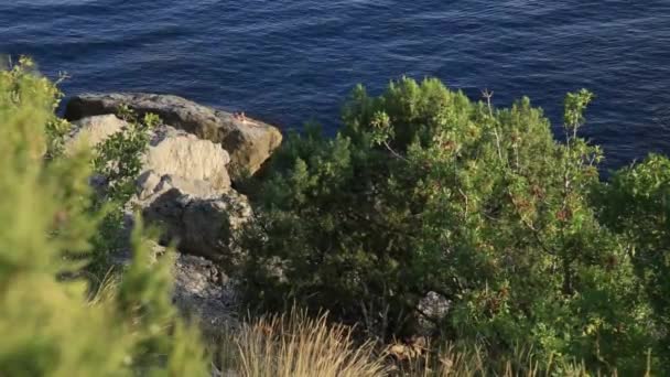
[[221, 143], [230, 153], [228, 172], [234, 180], [252, 174], [279, 147], [281, 132], [264, 122], [238, 119], [231, 114], [215, 110], [177, 96], [154, 94], [84, 94], [69, 100], [65, 118], [116, 114], [127, 105], [139, 115], [153, 112], [170, 126]]

